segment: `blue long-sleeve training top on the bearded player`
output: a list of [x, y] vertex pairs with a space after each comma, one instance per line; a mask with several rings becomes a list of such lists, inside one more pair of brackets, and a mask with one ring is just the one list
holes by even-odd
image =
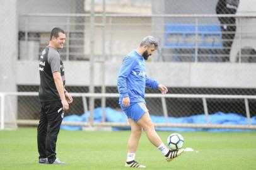
[[129, 96], [130, 103], [145, 102], [145, 88], [158, 89], [158, 82], [146, 76], [145, 60], [136, 50], [124, 57], [117, 77], [119, 105]]

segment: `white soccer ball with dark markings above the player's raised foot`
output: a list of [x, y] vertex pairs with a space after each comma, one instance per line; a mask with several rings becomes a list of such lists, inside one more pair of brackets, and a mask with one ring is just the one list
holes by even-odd
[[171, 150], [177, 150], [182, 148], [184, 143], [184, 139], [182, 135], [179, 133], [172, 133], [170, 136], [167, 138], [167, 145], [170, 147]]

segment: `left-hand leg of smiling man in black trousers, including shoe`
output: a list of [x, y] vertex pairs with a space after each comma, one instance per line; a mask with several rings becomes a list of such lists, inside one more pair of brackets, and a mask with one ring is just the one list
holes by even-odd
[[45, 113], [45, 103], [41, 102], [40, 120], [37, 127], [37, 147], [38, 147], [38, 163], [44, 164], [47, 154], [45, 152], [45, 139], [47, 133], [47, 117]]

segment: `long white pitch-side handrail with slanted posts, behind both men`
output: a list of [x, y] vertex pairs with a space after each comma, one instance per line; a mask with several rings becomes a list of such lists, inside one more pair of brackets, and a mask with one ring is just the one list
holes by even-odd
[[[118, 93], [70, 93], [73, 97], [93, 97], [93, 98], [118, 98], [119, 94]], [[0, 92], [0, 97], [1, 97], [1, 112], [0, 112], [0, 123], [1, 127], [0, 130], [4, 129], [4, 98], [6, 96], [38, 96], [38, 92]], [[256, 99], [255, 95], [224, 95], [224, 94], [146, 94], [147, 98], [161, 98], [162, 106], [164, 107], [163, 110], [165, 112], [164, 116], [167, 118], [167, 110], [166, 110], [166, 100], [165, 98], [201, 98], [202, 99], [202, 104], [204, 106], [204, 114], [206, 116], [206, 125], [204, 124], [185, 124], [185, 125], [180, 125], [180, 124], [175, 124], [175, 123], [156, 123], [156, 127], [198, 127], [198, 128], [248, 128], [248, 129], [256, 129], [255, 125], [250, 124], [250, 109], [248, 105], [248, 99]], [[245, 109], [247, 113], [247, 125], [212, 125], [209, 123], [209, 114], [208, 114], [208, 109], [207, 109], [207, 101], [206, 99], [244, 99], [245, 101]], [[166, 119], [167, 120], [167, 119]], [[37, 120], [33, 121], [28, 121], [28, 124], [37, 124]], [[20, 123], [21, 125], [24, 123], [24, 120], [17, 120], [17, 123]], [[106, 125], [106, 126], [127, 126], [127, 123], [109, 123], [109, 122], [102, 122], [102, 124], [94, 123], [94, 122], [88, 122], [88, 123], [83, 123], [80, 122], [80, 125], [87, 126], [98, 126], [98, 125]], [[65, 123], [64, 123], [65, 124]], [[67, 124], [70, 125], [78, 125], [79, 123], [76, 122], [69, 122]]]

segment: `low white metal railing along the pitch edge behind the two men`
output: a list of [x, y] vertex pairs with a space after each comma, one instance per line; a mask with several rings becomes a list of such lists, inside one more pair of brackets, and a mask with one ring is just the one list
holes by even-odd
[[[35, 92], [9, 92], [0, 93], [1, 97], [1, 113], [0, 113], [0, 130], [4, 130], [4, 105], [6, 96], [37, 96], [38, 93]], [[119, 94], [116, 93], [71, 93], [74, 97], [83, 98], [83, 108], [87, 111], [88, 107], [86, 105], [86, 98], [118, 98]], [[256, 99], [256, 96], [250, 95], [216, 95], [216, 94], [146, 94], [146, 98], [161, 98], [161, 105], [163, 107], [163, 116], [165, 116], [166, 121], [163, 123], [155, 123], [156, 127], [193, 127], [193, 128], [241, 128], [241, 129], [256, 129], [256, 125], [251, 125], [250, 121], [250, 108], [248, 105], [248, 99]], [[166, 98], [199, 98], [202, 99], [202, 105], [204, 106], [204, 115], [206, 118], [206, 124], [191, 124], [191, 123], [168, 123], [168, 110], [166, 108]], [[209, 113], [207, 108], [207, 99], [244, 99], [245, 110], [247, 115], [247, 125], [219, 125], [211, 124], [209, 122]], [[105, 104], [102, 103], [102, 106]], [[103, 111], [102, 118], [105, 118], [105, 113]], [[18, 125], [37, 125], [38, 120], [15, 120]], [[90, 114], [90, 119], [88, 122], [63, 122], [62, 125], [81, 125], [84, 127], [96, 127], [96, 126], [110, 126], [110, 127], [127, 127], [128, 123], [120, 122], [105, 122], [103, 119], [100, 123], [93, 122], [93, 113]]]

